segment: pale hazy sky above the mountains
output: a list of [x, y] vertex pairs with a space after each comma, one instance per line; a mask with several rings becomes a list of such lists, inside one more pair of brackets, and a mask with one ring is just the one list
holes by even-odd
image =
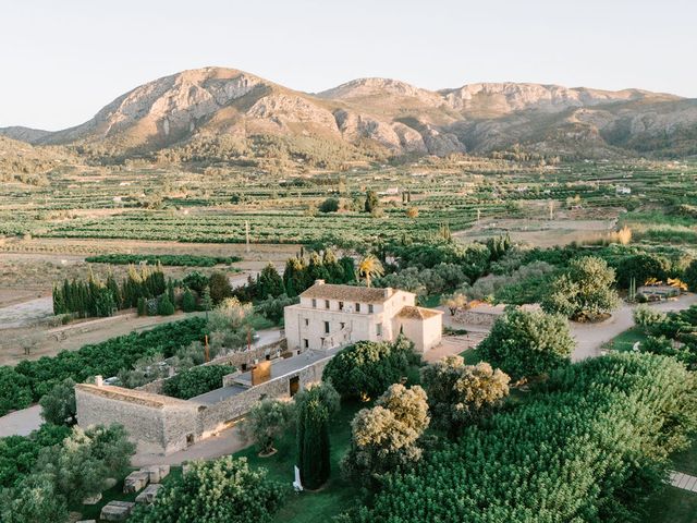
[[204, 65], [306, 92], [383, 76], [697, 97], [695, 21], [696, 0], [0, 0], [0, 126], [76, 125]]

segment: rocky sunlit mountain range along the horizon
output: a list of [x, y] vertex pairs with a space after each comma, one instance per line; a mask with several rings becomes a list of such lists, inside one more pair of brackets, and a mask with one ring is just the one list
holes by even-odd
[[[427, 90], [360, 78], [303, 93], [243, 71], [204, 68], [140, 85], [57, 132], [0, 135], [115, 156], [258, 154], [346, 157], [487, 154], [513, 146], [560, 156], [697, 154], [697, 99], [524, 83]], [[308, 145], [309, 144], [309, 145]], [[299, 153], [298, 153], [299, 151]]]

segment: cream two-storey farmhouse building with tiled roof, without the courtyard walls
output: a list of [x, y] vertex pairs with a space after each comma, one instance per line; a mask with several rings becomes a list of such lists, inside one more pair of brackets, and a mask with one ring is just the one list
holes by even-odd
[[285, 307], [285, 337], [290, 350], [320, 351], [360, 340], [394, 341], [402, 332], [425, 353], [441, 342], [442, 315], [417, 307], [412, 292], [317, 280], [301, 303]]

